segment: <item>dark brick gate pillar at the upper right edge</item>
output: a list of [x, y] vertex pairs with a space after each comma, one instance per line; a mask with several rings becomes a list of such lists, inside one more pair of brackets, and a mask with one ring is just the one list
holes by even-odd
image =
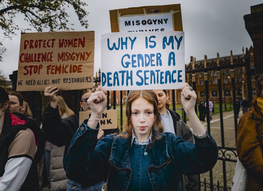
[[263, 4], [250, 10], [251, 14], [244, 16], [245, 27], [253, 41], [256, 74], [263, 74]]

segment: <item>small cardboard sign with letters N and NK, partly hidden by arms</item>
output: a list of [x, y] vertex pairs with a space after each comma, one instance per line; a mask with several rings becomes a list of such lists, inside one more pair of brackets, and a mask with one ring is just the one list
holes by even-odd
[[[91, 111], [79, 112], [79, 125], [84, 119], [91, 116]], [[104, 110], [100, 118], [100, 128], [103, 129], [116, 129], [117, 128], [117, 110]]]

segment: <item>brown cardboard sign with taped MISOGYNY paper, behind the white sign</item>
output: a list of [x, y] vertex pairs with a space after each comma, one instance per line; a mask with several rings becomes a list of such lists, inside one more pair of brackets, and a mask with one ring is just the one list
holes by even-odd
[[[110, 20], [111, 32], [183, 31], [180, 4], [110, 10]], [[167, 26], [165, 25], [169, 26], [169, 28], [166, 28]]]

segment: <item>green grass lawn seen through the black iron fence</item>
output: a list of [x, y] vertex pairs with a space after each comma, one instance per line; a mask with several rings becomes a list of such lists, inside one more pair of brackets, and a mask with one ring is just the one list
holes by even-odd
[[[182, 109], [181, 109], [182, 105], [181, 104], [177, 104], [175, 107], [176, 107], [176, 112], [179, 113], [182, 116]], [[215, 103], [214, 107], [215, 107], [215, 113], [212, 113], [212, 115], [216, 114], [216, 113], [219, 113], [219, 103]], [[227, 104], [227, 110], [225, 110], [224, 104], [223, 104], [222, 107], [223, 107], [223, 112], [233, 110], [233, 104], [232, 103], [231, 103], [231, 109], [230, 109], [230, 104], [229, 103]], [[116, 105], [116, 109], [117, 108], [120, 108], [120, 105]], [[126, 108], [126, 106], [123, 105], [123, 108]], [[113, 106], [112, 106], [111, 109], [113, 109]], [[172, 110], [172, 105], [170, 105], [169, 109]], [[197, 116], [199, 117], [198, 108], [197, 108]], [[188, 117], [187, 116], [186, 116], [186, 121], [188, 121]], [[120, 128], [120, 109], [117, 109], [117, 123], [118, 123], [118, 127]], [[123, 110], [123, 127], [125, 127], [125, 124], [126, 124], [126, 110]]]

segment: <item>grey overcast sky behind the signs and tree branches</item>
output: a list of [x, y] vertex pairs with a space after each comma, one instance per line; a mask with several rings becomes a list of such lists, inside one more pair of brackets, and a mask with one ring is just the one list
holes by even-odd
[[[205, 54], [208, 58], [215, 58], [216, 53], [219, 53], [220, 56], [230, 55], [230, 50], [233, 50], [233, 54], [241, 54], [242, 47], [249, 48], [250, 45], [253, 45], [245, 29], [243, 17], [250, 14], [250, 6], [262, 3], [262, 0], [86, 0], [85, 2], [88, 4], [86, 10], [89, 12], [86, 18], [89, 24], [88, 30], [95, 31], [94, 70], [96, 72], [100, 68], [100, 36], [103, 33], [111, 32], [109, 10], [181, 4], [183, 30], [185, 32], [185, 63], [188, 64], [190, 56], [196, 57], [196, 60], [201, 60], [204, 59]], [[85, 30], [77, 22], [73, 8], [68, 8], [68, 13], [71, 15], [69, 22], [74, 23], [74, 29], [76, 31]], [[28, 27], [21, 15], [14, 21], [20, 27]], [[1, 39], [3, 39], [1, 31], [0, 34]], [[4, 46], [7, 51], [3, 62], [0, 62], [0, 69], [4, 70], [8, 79], [8, 75], [18, 69], [19, 43], [19, 31], [12, 40], [4, 39]]]

